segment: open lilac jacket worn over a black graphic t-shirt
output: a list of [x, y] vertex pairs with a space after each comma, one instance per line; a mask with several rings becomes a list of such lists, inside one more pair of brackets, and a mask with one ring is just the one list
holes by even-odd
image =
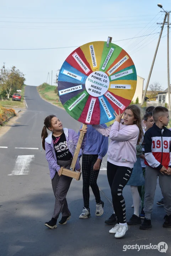
[[[76, 145], [78, 143], [79, 136], [73, 129], [64, 128], [64, 133], [66, 137], [66, 142], [68, 145], [68, 149], [71, 152], [71, 154], [74, 156]], [[86, 136], [84, 136], [84, 139], [82, 140], [81, 148], [84, 148], [86, 142]], [[45, 150], [46, 150], [46, 159], [49, 164], [49, 170], [50, 170], [50, 178], [51, 180], [55, 176], [55, 172], [60, 170], [60, 166], [57, 164], [57, 157], [55, 154], [54, 144], [52, 140], [52, 133], [48, 135], [48, 137], [45, 139]], [[79, 165], [79, 159], [76, 161], [75, 169], [78, 170], [80, 168]]]

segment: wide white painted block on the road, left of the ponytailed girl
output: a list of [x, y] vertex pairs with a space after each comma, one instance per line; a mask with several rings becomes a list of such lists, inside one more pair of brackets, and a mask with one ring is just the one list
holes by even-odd
[[31, 161], [34, 161], [34, 155], [17, 156], [14, 170], [11, 174], [8, 174], [8, 176], [28, 174], [28, 168], [30, 166]]

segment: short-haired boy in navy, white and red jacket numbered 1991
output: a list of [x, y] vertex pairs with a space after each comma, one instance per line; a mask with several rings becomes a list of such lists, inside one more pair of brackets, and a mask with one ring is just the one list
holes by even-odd
[[151, 212], [154, 203], [157, 177], [166, 212], [164, 228], [171, 228], [171, 131], [165, 126], [169, 123], [169, 113], [165, 107], [155, 107], [153, 110], [153, 127], [144, 136], [145, 149], [145, 196], [144, 222], [140, 229], [151, 228]]

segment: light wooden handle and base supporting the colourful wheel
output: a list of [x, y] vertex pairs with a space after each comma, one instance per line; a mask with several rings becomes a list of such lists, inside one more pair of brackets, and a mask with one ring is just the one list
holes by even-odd
[[[83, 130], [85, 130], [86, 127], [87, 127], [87, 124], [82, 125]], [[70, 170], [65, 169], [64, 167], [61, 167], [60, 171], [59, 171], [59, 175], [65, 175], [65, 176], [68, 176], [68, 177], [71, 177], [71, 178], [75, 178], [76, 180], [80, 180], [81, 172], [76, 172], [76, 171], [74, 171], [74, 169], [75, 169], [75, 165], [76, 165], [76, 160], [78, 159], [78, 155], [79, 155], [79, 152], [80, 152], [80, 148], [81, 148], [83, 138], [84, 138], [84, 133], [81, 131], [80, 132], [80, 137], [79, 137], [76, 149], [75, 149], [75, 153], [74, 153], [74, 156], [73, 156], [73, 161], [71, 163]]]

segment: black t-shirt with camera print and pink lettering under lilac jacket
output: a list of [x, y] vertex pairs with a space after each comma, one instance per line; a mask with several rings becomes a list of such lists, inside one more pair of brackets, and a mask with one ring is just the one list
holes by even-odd
[[53, 144], [55, 153], [57, 156], [57, 160], [70, 160], [73, 158], [71, 152], [68, 149], [68, 145], [66, 143], [65, 133], [63, 132], [59, 137], [55, 137], [52, 135]]

